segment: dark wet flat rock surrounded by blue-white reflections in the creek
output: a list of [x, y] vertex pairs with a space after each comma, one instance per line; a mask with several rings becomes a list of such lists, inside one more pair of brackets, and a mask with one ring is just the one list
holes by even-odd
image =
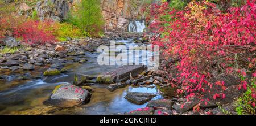
[[137, 105], [143, 105], [144, 103], [150, 101], [155, 96], [156, 96], [155, 94], [150, 94], [150, 93], [129, 92], [125, 96], [125, 99], [127, 99], [131, 103], [135, 103]]

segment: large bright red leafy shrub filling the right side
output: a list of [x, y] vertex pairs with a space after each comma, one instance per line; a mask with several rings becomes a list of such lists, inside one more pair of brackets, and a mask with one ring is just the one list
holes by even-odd
[[[213, 70], [239, 73], [237, 67], [228, 66], [236, 60], [242, 68], [248, 68], [249, 63], [249, 68], [255, 66], [255, 0], [248, 0], [246, 5], [229, 8], [226, 12], [206, 1], [189, 3], [182, 11], [170, 8], [167, 2], [152, 6], [154, 23], [150, 27], [156, 34], [162, 34], [152, 43], [166, 46], [164, 54], [180, 59], [176, 64], [180, 71], [177, 82], [182, 83], [178, 91], [185, 92], [187, 98], [203, 94], [205, 86], [212, 89], [207, 78], [214, 76]], [[167, 15], [168, 18], [163, 18]], [[241, 76], [245, 75], [243, 71]], [[216, 82], [223, 90], [226, 89], [224, 84], [224, 81]], [[246, 80], [241, 85], [247, 89]], [[225, 94], [213, 95], [214, 99], [220, 97], [225, 98]]]

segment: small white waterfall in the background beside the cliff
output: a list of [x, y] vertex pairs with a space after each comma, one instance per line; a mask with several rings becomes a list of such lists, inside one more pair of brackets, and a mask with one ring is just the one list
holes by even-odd
[[131, 21], [128, 26], [129, 32], [143, 32], [143, 29], [146, 28], [144, 21]]

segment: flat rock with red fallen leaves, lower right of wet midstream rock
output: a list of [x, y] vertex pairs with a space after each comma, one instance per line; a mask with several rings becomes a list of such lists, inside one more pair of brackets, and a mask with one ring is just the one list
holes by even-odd
[[167, 108], [168, 110], [171, 110], [173, 104], [174, 102], [169, 99], [158, 99], [148, 102], [147, 107]]

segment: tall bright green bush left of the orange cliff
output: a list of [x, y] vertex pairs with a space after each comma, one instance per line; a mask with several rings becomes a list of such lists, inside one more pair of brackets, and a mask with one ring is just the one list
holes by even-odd
[[87, 32], [92, 37], [98, 37], [103, 32], [104, 18], [101, 14], [99, 0], [82, 0], [75, 5], [67, 21], [76, 25], [83, 32]]

